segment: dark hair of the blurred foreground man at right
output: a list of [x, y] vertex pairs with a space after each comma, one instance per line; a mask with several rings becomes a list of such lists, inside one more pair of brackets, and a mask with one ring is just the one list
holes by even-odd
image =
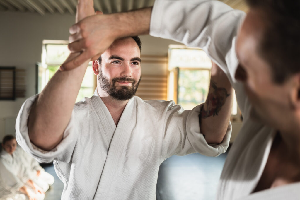
[[300, 72], [300, 0], [247, 0], [247, 3], [263, 12], [265, 30], [258, 53], [270, 65], [274, 82], [281, 84]]

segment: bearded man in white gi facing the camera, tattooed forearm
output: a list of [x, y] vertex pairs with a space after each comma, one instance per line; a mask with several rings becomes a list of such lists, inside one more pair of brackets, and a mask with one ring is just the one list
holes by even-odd
[[[77, 20], [94, 13], [92, 4], [79, 1]], [[138, 37], [117, 39], [98, 57], [97, 89], [74, 106], [87, 65], [55, 73], [41, 94], [26, 100], [16, 121], [22, 148], [39, 161], [54, 160], [62, 199], [155, 199], [166, 158], [226, 151], [232, 88], [217, 65], [206, 103], [191, 111], [174, 101], [133, 96], [141, 77]]]

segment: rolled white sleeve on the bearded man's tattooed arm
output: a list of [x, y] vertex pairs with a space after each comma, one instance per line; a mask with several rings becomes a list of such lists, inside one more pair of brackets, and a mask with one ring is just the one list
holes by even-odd
[[223, 141], [220, 144], [208, 145], [199, 124], [202, 105], [193, 110], [184, 110], [174, 101], [169, 102], [164, 122], [162, 161], [173, 154], [184, 156], [198, 152], [205, 156], [218, 156], [227, 150], [231, 136], [230, 122]]

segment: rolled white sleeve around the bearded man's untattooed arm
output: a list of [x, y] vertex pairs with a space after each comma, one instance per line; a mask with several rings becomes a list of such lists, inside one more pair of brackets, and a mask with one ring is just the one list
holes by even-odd
[[74, 112], [72, 112], [71, 119], [64, 130], [61, 142], [50, 151], [41, 150], [30, 142], [27, 126], [30, 108], [37, 97], [38, 95], [28, 98], [19, 111], [16, 119], [16, 140], [24, 151], [40, 163], [49, 163], [55, 158], [58, 158], [62, 162], [69, 162], [78, 137], [78, 131], [74, 130], [76, 129]]

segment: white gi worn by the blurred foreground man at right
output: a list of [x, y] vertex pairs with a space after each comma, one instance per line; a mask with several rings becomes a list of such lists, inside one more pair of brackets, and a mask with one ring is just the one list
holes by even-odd
[[265, 168], [275, 130], [250, 118], [251, 104], [242, 83], [234, 78], [238, 67], [235, 42], [244, 17], [244, 12], [220, 1], [157, 0], [150, 35], [202, 48], [235, 89], [244, 121], [227, 156], [217, 199], [299, 199], [299, 182], [251, 194]]

